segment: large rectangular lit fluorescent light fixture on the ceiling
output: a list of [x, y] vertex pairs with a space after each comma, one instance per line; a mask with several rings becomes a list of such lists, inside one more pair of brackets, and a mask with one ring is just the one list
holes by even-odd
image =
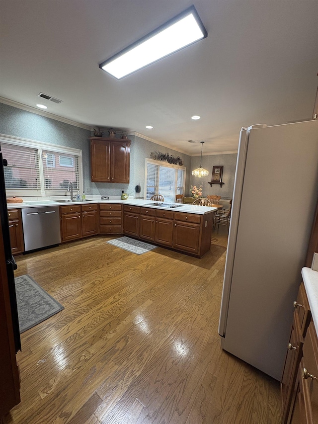
[[120, 80], [126, 75], [182, 49], [208, 33], [194, 6], [99, 65]]

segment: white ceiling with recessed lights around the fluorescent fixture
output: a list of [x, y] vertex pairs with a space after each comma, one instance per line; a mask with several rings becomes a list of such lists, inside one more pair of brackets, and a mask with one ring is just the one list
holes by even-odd
[[[120, 81], [99, 69], [191, 4], [206, 39]], [[236, 151], [242, 126], [311, 118], [317, 18], [315, 0], [0, 0], [0, 96], [189, 155]]]

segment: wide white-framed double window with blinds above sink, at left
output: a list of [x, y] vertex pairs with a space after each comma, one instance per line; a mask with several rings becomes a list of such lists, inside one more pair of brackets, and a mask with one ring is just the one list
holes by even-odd
[[[23, 140], [0, 140], [6, 195], [53, 195], [68, 188], [82, 189], [81, 151]], [[32, 146], [32, 144], [34, 145]]]

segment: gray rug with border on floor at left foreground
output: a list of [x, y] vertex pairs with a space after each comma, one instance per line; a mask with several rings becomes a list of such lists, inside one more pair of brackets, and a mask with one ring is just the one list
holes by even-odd
[[64, 307], [29, 275], [15, 277], [20, 333], [62, 311]]

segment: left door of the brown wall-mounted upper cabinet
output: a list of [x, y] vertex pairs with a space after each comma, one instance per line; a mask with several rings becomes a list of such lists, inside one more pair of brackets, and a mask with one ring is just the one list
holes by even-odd
[[90, 140], [91, 180], [110, 182], [110, 142]]

